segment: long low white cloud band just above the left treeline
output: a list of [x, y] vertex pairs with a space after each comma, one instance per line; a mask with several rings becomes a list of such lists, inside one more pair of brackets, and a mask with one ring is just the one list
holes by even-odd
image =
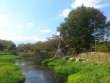
[[37, 36], [29, 36], [29, 35], [19, 35], [19, 34], [11, 34], [11, 35], [5, 35], [5, 34], [0, 34], [0, 38], [3, 40], [11, 40], [14, 41], [15, 43], [19, 42], [24, 42], [24, 43], [34, 43], [37, 41], [45, 41], [46, 39], [44, 38], [39, 38]]

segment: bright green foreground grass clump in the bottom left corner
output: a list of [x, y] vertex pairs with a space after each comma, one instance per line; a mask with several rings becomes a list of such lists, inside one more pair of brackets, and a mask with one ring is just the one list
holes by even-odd
[[0, 64], [0, 83], [23, 83], [24, 76], [14, 64]]

